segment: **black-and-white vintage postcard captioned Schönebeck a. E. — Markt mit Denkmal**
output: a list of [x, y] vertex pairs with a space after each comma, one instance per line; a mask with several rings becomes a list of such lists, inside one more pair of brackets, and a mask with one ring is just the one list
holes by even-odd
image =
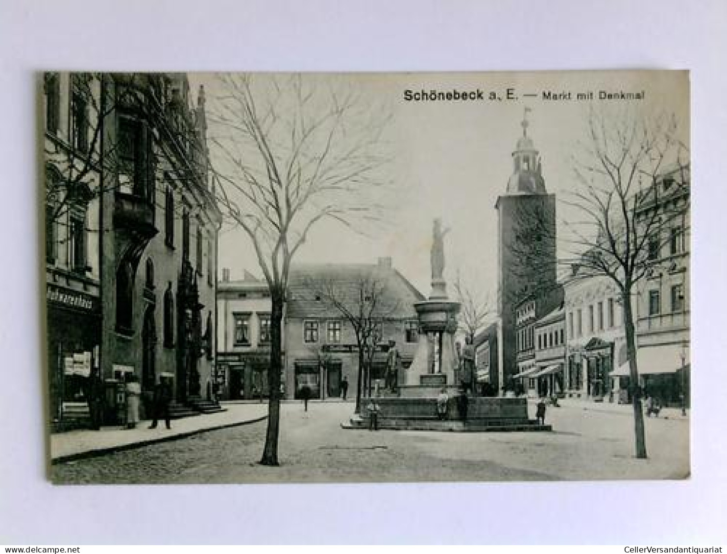
[[52, 482], [690, 475], [688, 72], [39, 96]]

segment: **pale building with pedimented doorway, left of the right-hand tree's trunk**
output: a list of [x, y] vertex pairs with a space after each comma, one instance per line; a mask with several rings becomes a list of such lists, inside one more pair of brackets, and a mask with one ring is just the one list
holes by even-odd
[[585, 272], [574, 265], [565, 284], [565, 393], [626, 402], [628, 382], [614, 375], [628, 360], [621, 295], [610, 277]]

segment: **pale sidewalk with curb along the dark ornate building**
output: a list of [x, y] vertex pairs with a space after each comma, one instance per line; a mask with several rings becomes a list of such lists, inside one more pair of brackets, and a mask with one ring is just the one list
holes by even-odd
[[201, 414], [182, 419], [172, 419], [172, 429], [166, 429], [164, 422], [156, 429], [149, 429], [150, 420], [139, 422], [135, 429], [102, 427], [100, 431], [76, 430], [53, 433], [50, 436], [52, 463], [68, 462], [73, 459], [89, 458], [110, 454], [164, 441], [174, 441], [204, 431], [235, 427], [254, 423], [268, 417], [268, 404], [220, 403], [225, 412]]

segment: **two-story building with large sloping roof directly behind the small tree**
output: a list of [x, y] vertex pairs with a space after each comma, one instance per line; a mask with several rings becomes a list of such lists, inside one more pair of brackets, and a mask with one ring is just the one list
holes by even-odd
[[[414, 302], [425, 297], [393, 268], [390, 258], [380, 258], [377, 264], [297, 265], [291, 268], [284, 319], [286, 398], [297, 398], [304, 385], [313, 398], [340, 396], [344, 378], [349, 396], [356, 397], [359, 353], [353, 325], [318, 290], [321, 286], [335, 289], [338, 302], [356, 309], [361, 302], [371, 302], [366, 297], [371, 283], [378, 284], [375, 289], [381, 307], [370, 312], [378, 321], [372, 386], [384, 384], [390, 341], [401, 355], [402, 370], [411, 365], [419, 340]], [[403, 382], [403, 375], [399, 380]]]

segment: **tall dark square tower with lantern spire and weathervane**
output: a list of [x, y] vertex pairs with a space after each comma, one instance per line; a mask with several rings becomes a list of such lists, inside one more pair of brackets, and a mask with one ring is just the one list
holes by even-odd
[[513, 151], [513, 174], [505, 194], [497, 198], [498, 313], [501, 348], [499, 367], [503, 382], [517, 373], [515, 305], [528, 294], [549, 294], [555, 289], [555, 195], [548, 194], [539, 152], [528, 136], [529, 108], [525, 108], [523, 135]]

